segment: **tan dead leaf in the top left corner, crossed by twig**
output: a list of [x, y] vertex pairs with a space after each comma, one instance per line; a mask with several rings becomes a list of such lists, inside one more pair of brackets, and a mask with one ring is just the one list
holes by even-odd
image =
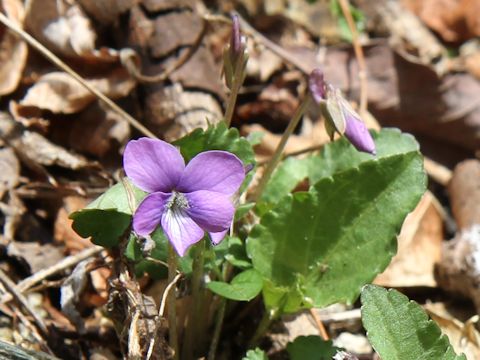
[[[20, 0], [2, 0], [1, 10], [18, 26], [23, 27], [25, 10]], [[0, 27], [0, 95], [15, 91], [27, 61], [27, 44], [14, 33]]]

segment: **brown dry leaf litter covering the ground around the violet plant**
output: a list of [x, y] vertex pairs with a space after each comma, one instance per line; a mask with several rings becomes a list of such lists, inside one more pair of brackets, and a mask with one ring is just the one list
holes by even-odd
[[[262, 162], [271, 157], [279, 134], [293, 115], [298, 95], [305, 91], [304, 76], [313, 67], [322, 66], [328, 81], [357, 103], [359, 67], [350, 43], [337, 46], [342, 42], [341, 28], [325, 2], [239, 3], [248, 10], [248, 20], [257, 30], [248, 34], [251, 61], [233, 124], [245, 135], [264, 134], [255, 147], [257, 159]], [[355, 3], [367, 15], [369, 32], [361, 34], [361, 41], [373, 121], [412, 132], [419, 138], [422, 151], [447, 169], [477, 156], [479, 71], [474, 59], [480, 47], [473, 39], [478, 36], [475, 2], [443, 1], [445, 6], [439, 7], [428, 0], [402, 1], [405, 7], [400, 5], [394, 10], [386, 1], [373, 7], [365, 1]], [[435, 11], [431, 11], [432, 7]], [[156, 135], [175, 140], [197, 127], [220, 121], [226, 97], [221, 80], [221, 48], [228, 41], [228, 27], [207, 23], [205, 14], [231, 10], [222, 2], [192, 6], [181, 0], [29, 0], [24, 6], [20, 1], [3, 0], [1, 8], [8, 19]], [[414, 24], [416, 31], [409, 34], [398, 23], [385, 23], [388, 11]], [[320, 27], [316, 26], [318, 19]], [[372, 19], [378, 23], [368, 21]], [[261, 34], [267, 35], [266, 40]], [[415, 34], [421, 36], [415, 38]], [[142, 81], [123, 67], [119, 54], [127, 47], [134, 48], [138, 55], [140, 74], [147, 78], [166, 74], [164, 81]], [[452, 47], [454, 51], [448, 54], [447, 49]], [[66, 256], [91, 248], [88, 240], [71, 230], [68, 214], [83, 208], [118, 179], [120, 154], [137, 133], [118, 112], [70, 75], [38, 61], [36, 50], [28, 48], [24, 40], [3, 25], [0, 49], [0, 246], [6, 254], [0, 268], [18, 284]], [[25, 70], [29, 66], [33, 72]], [[298, 156], [304, 149], [327, 143], [321, 121], [319, 114], [309, 112], [286, 153]], [[461, 178], [475, 177], [467, 174]], [[458, 297], [440, 289], [460, 292], [477, 307], [480, 301], [477, 291], [469, 290], [478, 282], [473, 263], [455, 268], [468, 257], [463, 247], [466, 245], [462, 245], [467, 241], [464, 231], [478, 225], [478, 219], [467, 215], [476, 214], [476, 204], [457, 199], [471, 196], [471, 191], [461, 193], [469, 185], [458, 179], [454, 176], [448, 194], [445, 184], [430, 185], [431, 193], [404, 224], [397, 258], [376, 280], [385, 286], [407, 289], [410, 297], [419, 302], [439, 299], [451, 305], [447, 311], [452, 312], [458, 307]], [[459, 206], [464, 209], [458, 210]], [[453, 241], [446, 241], [452, 237]], [[420, 262], [422, 266], [413, 269]], [[86, 264], [96, 269], [88, 273]], [[452, 279], [457, 279], [459, 271], [467, 273], [468, 281], [456, 283], [453, 289]], [[146, 276], [137, 282], [127, 274], [125, 268], [115, 269], [109, 257], [70, 264], [29, 289], [29, 294], [37, 296], [36, 308], [55, 329], [52, 338], [40, 335], [35, 340], [27, 336], [22, 326], [27, 326], [28, 321], [22, 326], [12, 321], [14, 314], [22, 316], [24, 309], [6, 302], [2, 304], [6, 310], [2, 310], [0, 328], [14, 332], [5, 332], [2, 339], [34, 351], [69, 354], [69, 358], [79, 358], [82, 352], [90, 358], [99, 353], [108, 353], [110, 358], [118, 358], [121, 353], [134, 357], [155, 339], [152, 343], [157, 353], [170, 354], [165, 324], [160, 321], [158, 326], [152, 320], [158, 315], [158, 299], [139, 291], [140, 287], [153, 289], [158, 283]], [[75, 287], [74, 283], [81, 286]], [[1, 288], [1, 294], [5, 296], [8, 291]], [[106, 302], [113, 306], [110, 318], [102, 312]], [[61, 303], [63, 315], [59, 311]], [[185, 306], [182, 299], [178, 306]], [[330, 319], [325, 323], [333, 336], [361, 332], [358, 318], [350, 313], [354, 310], [336, 308], [323, 317]], [[450, 319], [450, 315], [442, 317]], [[295, 320], [302, 328], [302, 321], [311, 322], [312, 318], [304, 314]], [[462, 334], [458, 335], [459, 350], [466, 349], [461, 339], [468, 333], [468, 351], [478, 354], [478, 336], [471, 335], [476, 330], [471, 330], [468, 316], [440, 325], [454, 327]], [[123, 328], [123, 338], [115, 335], [115, 327]], [[70, 343], [59, 336], [61, 329], [67, 328]], [[296, 334], [296, 330], [281, 331], [287, 340], [275, 340], [278, 335], [272, 335], [273, 356], [285, 353], [285, 344]], [[90, 354], [82, 349], [81, 342], [88, 344]], [[352, 344], [353, 340], [351, 347], [349, 340], [342, 342], [347, 350], [359, 353]]]

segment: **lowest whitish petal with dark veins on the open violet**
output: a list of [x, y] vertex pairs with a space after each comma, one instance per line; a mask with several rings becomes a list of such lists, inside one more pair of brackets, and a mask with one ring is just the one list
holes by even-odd
[[178, 255], [199, 242], [205, 232], [183, 210], [168, 210], [162, 215], [162, 228]]

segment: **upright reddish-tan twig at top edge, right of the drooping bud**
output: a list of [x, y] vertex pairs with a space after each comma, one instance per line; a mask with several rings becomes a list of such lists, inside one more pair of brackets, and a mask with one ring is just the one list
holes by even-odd
[[358, 77], [360, 79], [360, 115], [365, 114], [367, 110], [368, 101], [368, 83], [367, 83], [367, 65], [365, 56], [363, 55], [363, 48], [358, 37], [357, 27], [353, 21], [352, 12], [350, 11], [350, 3], [348, 0], [339, 0], [343, 15], [347, 20], [348, 27], [352, 33], [353, 50], [358, 62]]

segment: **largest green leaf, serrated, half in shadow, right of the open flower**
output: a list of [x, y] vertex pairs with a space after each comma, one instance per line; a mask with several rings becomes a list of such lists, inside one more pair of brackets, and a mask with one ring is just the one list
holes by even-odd
[[247, 239], [254, 268], [279, 288], [264, 291], [267, 306], [294, 312], [355, 301], [390, 262], [396, 235], [425, 189], [415, 148], [362, 162], [322, 178], [309, 192], [284, 197]]

